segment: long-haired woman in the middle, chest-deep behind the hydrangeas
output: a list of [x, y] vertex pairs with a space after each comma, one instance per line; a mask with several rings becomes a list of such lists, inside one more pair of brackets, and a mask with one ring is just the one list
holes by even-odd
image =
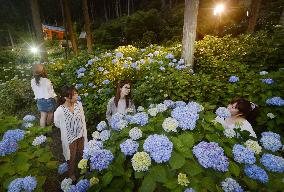
[[109, 121], [116, 113], [126, 114], [130, 108], [135, 112], [135, 106], [131, 100], [131, 82], [129, 80], [119, 81], [116, 86], [116, 95], [112, 97], [107, 105], [106, 118]]

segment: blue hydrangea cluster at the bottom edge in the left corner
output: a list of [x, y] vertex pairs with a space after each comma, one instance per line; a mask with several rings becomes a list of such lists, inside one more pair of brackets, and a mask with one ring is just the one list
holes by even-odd
[[8, 192], [28, 191], [31, 192], [36, 188], [37, 181], [34, 177], [27, 176], [24, 178], [14, 179], [8, 186]]

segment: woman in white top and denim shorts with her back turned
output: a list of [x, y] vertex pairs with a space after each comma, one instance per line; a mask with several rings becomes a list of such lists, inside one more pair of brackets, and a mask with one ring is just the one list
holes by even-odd
[[56, 94], [47, 73], [42, 64], [33, 66], [33, 76], [31, 87], [37, 101], [37, 108], [40, 112], [40, 126], [45, 127], [53, 121], [53, 112], [56, 107]]

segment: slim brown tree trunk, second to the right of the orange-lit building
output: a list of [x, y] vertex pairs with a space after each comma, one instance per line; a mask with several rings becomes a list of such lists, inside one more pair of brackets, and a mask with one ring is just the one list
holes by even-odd
[[85, 31], [87, 34], [87, 48], [88, 52], [93, 52], [93, 40], [92, 40], [92, 32], [91, 32], [91, 25], [90, 25], [90, 17], [88, 11], [88, 0], [83, 0], [83, 14], [84, 14], [84, 21], [85, 21]]

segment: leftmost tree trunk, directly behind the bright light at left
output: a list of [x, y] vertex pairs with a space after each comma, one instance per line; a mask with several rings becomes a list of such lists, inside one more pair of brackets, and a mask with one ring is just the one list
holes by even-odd
[[33, 17], [33, 24], [37, 39], [37, 45], [40, 46], [40, 58], [41, 61], [47, 61], [47, 52], [43, 40], [43, 33], [42, 33], [42, 25], [41, 25], [41, 19], [39, 14], [39, 7], [38, 7], [38, 1], [37, 0], [30, 0], [31, 3], [31, 10], [32, 10], [32, 17]]

